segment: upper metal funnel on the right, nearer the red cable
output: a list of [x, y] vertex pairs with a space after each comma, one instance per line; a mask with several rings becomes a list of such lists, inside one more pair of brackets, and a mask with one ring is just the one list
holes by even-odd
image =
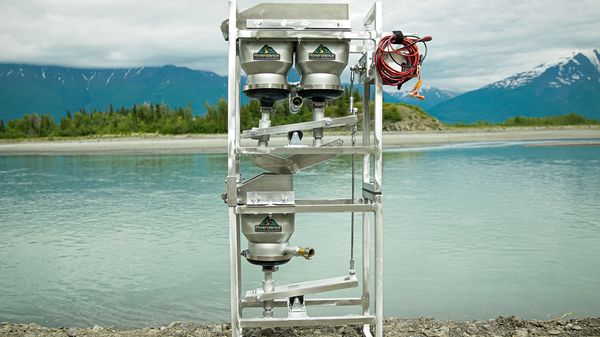
[[348, 41], [302, 41], [296, 45], [296, 69], [302, 76], [300, 95], [312, 100], [337, 98], [340, 75], [348, 64]]

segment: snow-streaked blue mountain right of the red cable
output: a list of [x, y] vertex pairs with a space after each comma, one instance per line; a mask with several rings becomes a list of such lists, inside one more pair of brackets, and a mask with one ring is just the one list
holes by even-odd
[[431, 113], [445, 122], [502, 122], [576, 112], [600, 119], [600, 50], [573, 52], [451, 98]]

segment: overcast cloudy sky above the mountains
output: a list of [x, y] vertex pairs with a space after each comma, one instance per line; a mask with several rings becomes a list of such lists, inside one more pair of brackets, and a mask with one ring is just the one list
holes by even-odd
[[[238, 5], [259, 2], [269, 1]], [[353, 29], [360, 30], [372, 2], [349, 3]], [[227, 8], [226, 0], [2, 0], [0, 63], [174, 64], [224, 75], [227, 44], [219, 25]], [[384, 0], [383, 9], [384, 30], [433, 36], [426, 86], [472, 90], [600, 48], [600, 0]]]

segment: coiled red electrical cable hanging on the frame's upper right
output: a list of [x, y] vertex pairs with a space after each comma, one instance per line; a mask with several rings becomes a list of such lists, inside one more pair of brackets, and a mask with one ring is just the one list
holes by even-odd
[[[375, 66], [383, 84], [394, 85], [400, 89], [406, 81], [414, 77], [420, 78], [421, 63], [427, 53], [421, 57], [417, 43], [422, 42], [427, 51], [425, 44], [427, 41], [431, 41], [431, 36], [423, 38], [412, 35], [403, 36], [402, 41], [397, 41], [396, 35], [383, 37], [375, 52]], [[420, 82], [418, 86], [420, 86]], [[418, 88], [413, 89], [413, 92], [418, 95]]]

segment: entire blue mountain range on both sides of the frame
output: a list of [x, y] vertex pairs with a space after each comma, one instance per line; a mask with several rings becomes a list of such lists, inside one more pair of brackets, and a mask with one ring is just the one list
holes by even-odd
[[[297, 77], [290, 74], [291, 80]], [[433, 87], [421, 92], [425, 101], [406, 91], [384, 91], [384, 100], [418, 105], [450, 123], [569, 112], [600, 119], [600, 50], [575, 52], [462, 94]], [[58, 118], [67, 111], [143, 103], [190, 106], [194, 114], [202, 115], [206, 103], [226, 96], [226, 77], [171, 65], [78, 69], [0, 64], [0, 119], [5, 121], [32, 112]]]

